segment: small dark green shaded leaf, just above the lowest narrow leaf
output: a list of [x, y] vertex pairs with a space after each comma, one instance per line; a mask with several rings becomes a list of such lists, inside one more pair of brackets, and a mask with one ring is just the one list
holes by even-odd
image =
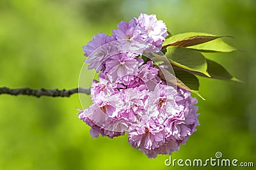
[[191, 90], [199, 90], [199, 80], [194, 75], [189, 73], [188, 71], [183, 71], [181, 69], [174, 69], [175, 76], [179, 78], [189, 89]]

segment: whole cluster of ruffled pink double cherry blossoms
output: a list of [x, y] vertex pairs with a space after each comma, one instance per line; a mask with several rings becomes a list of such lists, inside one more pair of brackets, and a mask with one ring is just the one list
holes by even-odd
[[83, 46], [88, 69], [100, 72], [92, 84], [93, 104], [79, 113], [93, 138], [127, 133], [132, 147], [155, 158], [179, 150], [196, 131], [197, 100], [167, 84], [159, 77], [161, 67], [145, 59], [145, 53], [160, 52], [166, 36], [162, 20], [142, 13]]

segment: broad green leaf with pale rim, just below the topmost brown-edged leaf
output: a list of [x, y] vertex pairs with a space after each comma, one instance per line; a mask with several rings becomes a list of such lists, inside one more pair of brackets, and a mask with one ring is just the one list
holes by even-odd
[[165, 55], [174, 66], [210, 77], [207, 73], [206, 59], [200, 52], [179, 46], [168, 46]]

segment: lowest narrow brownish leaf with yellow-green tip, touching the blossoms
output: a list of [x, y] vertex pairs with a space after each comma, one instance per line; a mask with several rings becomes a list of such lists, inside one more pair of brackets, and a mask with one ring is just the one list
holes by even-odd
[[[159, 77], [161, 79], [163, 79], [164, 81], [166, 81], [167, 83], [171, 83], [172, 85], [175, 85], [181, 89], [185, 89], [188, 90], [189, 92], [193, 92], [194, 94], [196, 94], [197, 96], [201, 97], [201, 99], [205, 100], [204, 97], [202, 97], [199, 93], [198, 90], [193, 90], [190, 89], [187, 85], [185, 85], [181, 80], [179, 80], [179, 78], [173, 76], [172, 73], [170, 73], [168, 71], [168, 69], [163, 69], [161, 68], [161, 71], [159, 71]], [[185, 79], [185, 78], [184, 78]], [[188, 77], [187, 77], [188, 80]], [[188, 82], [188, 81], [187, 81]], [[198, 82], [198, 86], [199, 86], [199, 82]]]

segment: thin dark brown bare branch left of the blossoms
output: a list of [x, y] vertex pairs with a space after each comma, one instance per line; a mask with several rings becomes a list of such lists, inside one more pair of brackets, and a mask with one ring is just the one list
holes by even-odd
[[70, 97], [72, 94], [83, 93], [90, 94], [90, 88], [83, 89], [81, 87], [70, 90], [58, 90], [58, 89], [30, 89], [30, 88], [22, 88], [22, 89], [10, 89], [8, 87], [0, 87], [0, 95], [1, 94], [10, 94], [14, 96], [18, 95], [28, 95], [28, 96], [51, 96], [51, 97]]

